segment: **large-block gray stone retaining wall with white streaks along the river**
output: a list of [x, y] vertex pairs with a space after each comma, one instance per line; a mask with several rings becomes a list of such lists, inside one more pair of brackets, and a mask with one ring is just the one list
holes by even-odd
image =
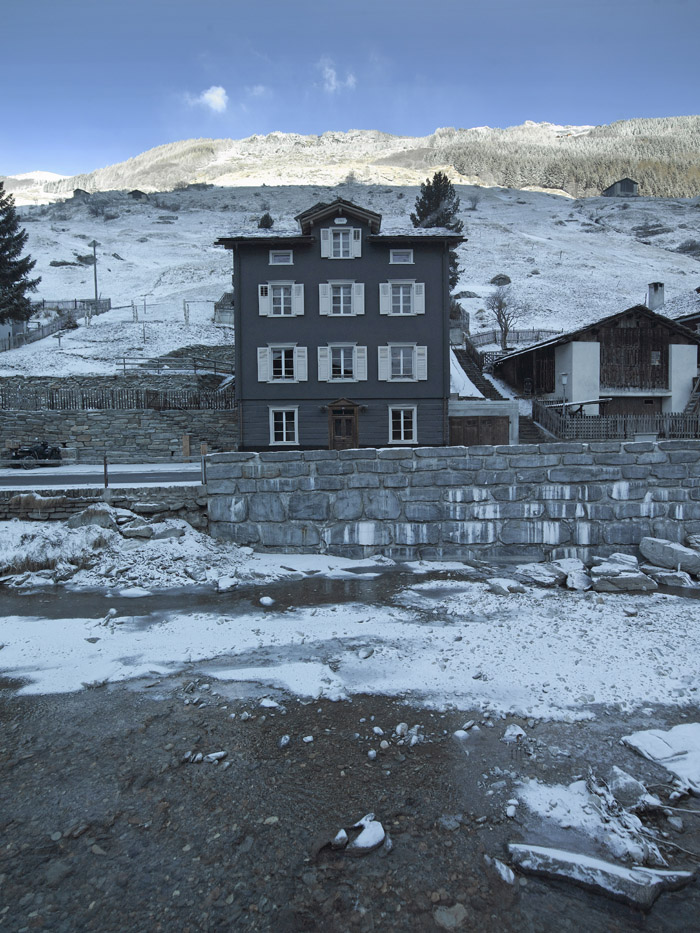
[[257, 550], [585, 560], [700, 533], [700, 440], [217, 454], [207, 493]]

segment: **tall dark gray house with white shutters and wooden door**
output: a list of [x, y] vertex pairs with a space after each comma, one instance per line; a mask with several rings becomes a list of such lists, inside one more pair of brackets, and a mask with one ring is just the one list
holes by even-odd
[[240, 449], [449, 441], [444, 230], [381, 234], [338, 198], [298, 234], [222, 237], [233, 251]]

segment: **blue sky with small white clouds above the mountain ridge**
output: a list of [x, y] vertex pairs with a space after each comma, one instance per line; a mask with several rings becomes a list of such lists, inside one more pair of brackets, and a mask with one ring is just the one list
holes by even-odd
[[191, 137], [700, 111], [698, 0], [8, 0], [0, 175]]

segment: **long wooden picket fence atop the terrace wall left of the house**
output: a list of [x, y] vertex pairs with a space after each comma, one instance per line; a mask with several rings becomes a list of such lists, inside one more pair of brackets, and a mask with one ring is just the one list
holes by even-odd
[[223, 392], [157, 391], [154, 389], [38, 389], [21, 391], [0, 387], [3, 411], [158, 411], [215, 410], [235, 408], [231, 389]]

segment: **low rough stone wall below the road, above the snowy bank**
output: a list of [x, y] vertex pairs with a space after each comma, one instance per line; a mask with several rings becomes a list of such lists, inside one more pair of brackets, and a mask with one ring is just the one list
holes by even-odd
[[43, 491], [0, 489], [0, 521], [63, 521], [96, 502], [108, 502], [139, 515], [157, 515], [159, 520], [184, 518], [195, 528], [206, 530], [207, 499], [202, 486], [144, 486], [140, 489], [47, 489]]

